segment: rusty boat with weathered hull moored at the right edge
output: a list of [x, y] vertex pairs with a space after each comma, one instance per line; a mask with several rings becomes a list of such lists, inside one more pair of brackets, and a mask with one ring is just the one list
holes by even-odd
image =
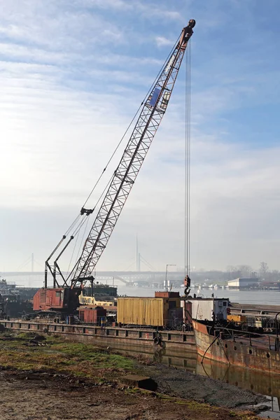
[[197, 353], [228, 365], [280, 374], [278, 335], [258, 334], [193, 320]]

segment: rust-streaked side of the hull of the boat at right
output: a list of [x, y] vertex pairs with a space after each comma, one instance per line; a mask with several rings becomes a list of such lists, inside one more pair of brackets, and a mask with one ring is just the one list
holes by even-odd
[[280, 374], [278, 351], [261, 349], [256, 345], [241, 344], [230, 339], [209, 335], [207, 326], [193, 321], [197, 353], [204, 358], [228, 365], [247, 367], [263, 372]]

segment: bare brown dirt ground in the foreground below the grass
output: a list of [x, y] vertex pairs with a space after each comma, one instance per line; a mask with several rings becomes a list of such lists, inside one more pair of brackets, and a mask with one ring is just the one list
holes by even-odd
[[229, 409], [122, 388], [115, 384], [91, 384], [61, 374], [2, 371], [0, 419], [256, 419]]

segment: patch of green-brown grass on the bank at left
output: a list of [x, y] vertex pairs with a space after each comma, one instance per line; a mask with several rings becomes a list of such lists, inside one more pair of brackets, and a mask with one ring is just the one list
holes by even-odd
[[113, 379], [134, 370], [135, 362], [88, 344], [47, 337], [46, 346], [31, 346], [34, 334], [0, 335], [0, 365], [18, 370], [52, 370], [90, 379]]

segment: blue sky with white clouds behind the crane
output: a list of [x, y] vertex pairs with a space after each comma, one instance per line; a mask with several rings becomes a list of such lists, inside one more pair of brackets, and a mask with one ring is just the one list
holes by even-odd
[[[190, 18], [190, 266], [280, 269], [279, 12], [278, 0], [0, 0], [0, 274], [30, 269], [31, 253], [43, 269]], [[136, 237], [156, 270], [183, 267], [185, 77], [184, 62], [97, 270], [134, 269]]]

